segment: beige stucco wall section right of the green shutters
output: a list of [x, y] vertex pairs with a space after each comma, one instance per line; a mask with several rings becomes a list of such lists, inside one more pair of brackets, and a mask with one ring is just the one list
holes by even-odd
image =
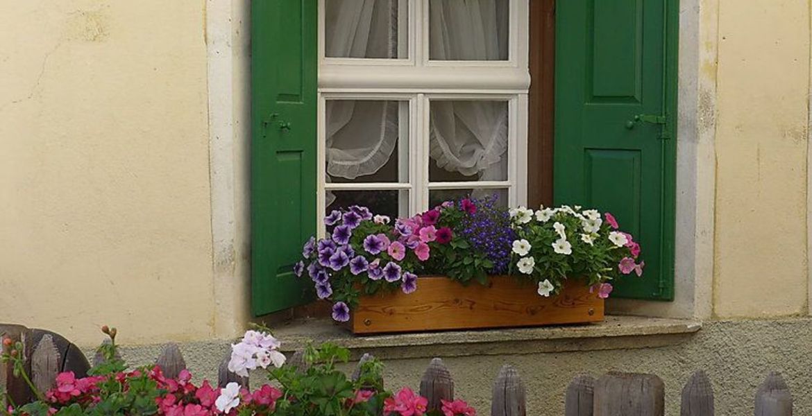
[[718, 7], [715, 315], [806, 313], [810, 4]]

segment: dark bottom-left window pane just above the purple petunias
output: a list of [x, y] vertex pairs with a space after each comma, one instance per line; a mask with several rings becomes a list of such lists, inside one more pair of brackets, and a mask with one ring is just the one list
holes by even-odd
[[408, 191], [327, 191], [327, 212], [352, 205], [369, 208], [392, 219], [408, 216]]

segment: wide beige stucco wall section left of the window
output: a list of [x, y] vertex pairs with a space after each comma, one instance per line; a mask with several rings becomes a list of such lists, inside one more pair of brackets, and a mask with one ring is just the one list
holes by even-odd
[[0, 321], [209, 337], [205, 3], [0, 10]]

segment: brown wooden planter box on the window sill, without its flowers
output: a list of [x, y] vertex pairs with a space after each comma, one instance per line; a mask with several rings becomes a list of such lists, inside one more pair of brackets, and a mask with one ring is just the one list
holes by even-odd
[[419, 277], [417, 291], [362, 296], [350, 316], [354, 334], [448, 329], [533, 327], [603, 321], [603, 299], [581, 281], [543, 298], [516, 277], [490, 277], [487, 286], [447, 277]]

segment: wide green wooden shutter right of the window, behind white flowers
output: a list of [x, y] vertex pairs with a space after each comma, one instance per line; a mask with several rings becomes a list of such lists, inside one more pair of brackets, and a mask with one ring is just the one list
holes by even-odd
[[676, 6], [560, 0], [555, 10], [555, 202], [611, 212], [641, 242], [643, 277], [615, 282], [618, 297], [673, 298]]

